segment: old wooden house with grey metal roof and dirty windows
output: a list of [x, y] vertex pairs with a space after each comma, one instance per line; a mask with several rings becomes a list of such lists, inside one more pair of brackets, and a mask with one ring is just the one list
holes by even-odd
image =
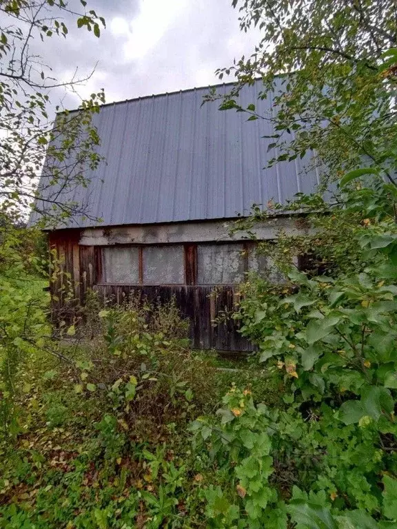
[[[226, 93], [230, 86], [217, 90]], [[256, 121], [244, 112], [220, 111], [216, 102], [202, 105], [207, 88], [101, 107], [94, 125], [106, 163], [72, 197], [101, 222], [73, 218], [49, 232], [80, 303], [88, 289], [114, 301], [132, 293], [148, 300], [174, 296], [190, 318], [195, 347], [252, 349], [230, 318], [214, 325], [221, 313], [233, 311], [245, 273], [269, 267], [245, 234], [230, 235], [230, 224], [253, 204], [265, 209], [270, 200], [284, 203], [318, 184], [316, 171], [305, 171], [305, 159], [267, 168], [276, 152], [274, 140], [263, 136], [274, 134], [274, 109], [271, 97], [258, 99], [260, 90], [256, 81], [238, 101], [256, 104], [265, 116]], [[297, 218], [283, 215], [258, 226], [258, 239], [275, 238], [281, 227], [303, 230]], [[55, 298], [59, 308], [62, 296]]]

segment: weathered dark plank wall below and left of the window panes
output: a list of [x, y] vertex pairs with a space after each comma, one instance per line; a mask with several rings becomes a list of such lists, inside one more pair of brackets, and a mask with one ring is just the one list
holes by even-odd
[[[51, 284], [54, 320], [72, 320], [77, 307], [84, 304], [89, 289], [110, 302], [121, 302], [129, 295], [150, 301], [167, 302], [175, 298], [185, 318], [190, 320], [190, 338], [197, 349], [252, 351], [254, 346], [238, 333], [238, 322], [231, 318], [239, 300], [238, 286], [195, 285], [194, 249], [185, 247], [185, 285], [112, 285], [101, 281], [101, 247], [79, 245], [78, 229], [55, 231], [49, 235], [58, 273]], [[227, 318], [225, 318], [225, 315]], [[222, 320], [214, 324], [214, 320]]]

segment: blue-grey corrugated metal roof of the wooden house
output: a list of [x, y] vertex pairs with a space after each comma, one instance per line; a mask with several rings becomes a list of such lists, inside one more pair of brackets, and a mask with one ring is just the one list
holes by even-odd
[[[261, 81], [245, 86], [239, 103], [271, 115], [272, 98], [258, 100], [261, 87]], [[318, 174], [305, 171], [308, 157], [265, 168], [276, 155], [268, 149], [272, 139], [262, 137], [274, 134], [271, 122], [219, 111], [219, 102], [202, 105], [207, 93], [194, 88], [103, 105], [93, 123], [107, 163], [89, 175], [88, 188], [65, 196], [103, 222], [74, 219], [68, 226], [232, 218], [254, 203], [283, 203], [314, 190]]]

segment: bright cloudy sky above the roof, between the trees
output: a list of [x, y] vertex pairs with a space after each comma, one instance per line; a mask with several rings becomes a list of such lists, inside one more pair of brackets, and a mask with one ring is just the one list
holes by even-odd
[[[90, 71], [98, 61], [79, 92], [84, 96], [103, 87], [108, 103], [216, 83], [216, 68], [250, 54], [259, 39], [258, 32], [240, 32], [231, 3], [90, 0], [106, 19], [101, 38], [69, 26], [65, 41], [52, 39], [46, 58], [63, 79], [77, 67], [81, 74]], [[70, 98], [65, 103], [78, 104]]]

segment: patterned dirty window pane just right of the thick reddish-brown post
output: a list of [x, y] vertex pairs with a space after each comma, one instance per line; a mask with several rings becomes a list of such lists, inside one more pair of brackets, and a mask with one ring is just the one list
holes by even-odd
[[244, 280], [243, 245], [198, 245], [197, 283], [233, 284]]

